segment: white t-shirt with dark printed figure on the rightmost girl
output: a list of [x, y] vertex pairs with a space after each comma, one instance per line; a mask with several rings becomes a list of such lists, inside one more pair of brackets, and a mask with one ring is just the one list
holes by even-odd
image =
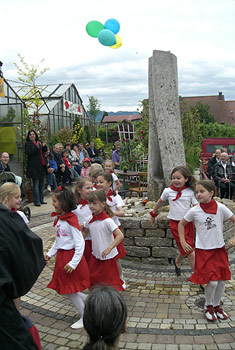
[[193, 221], [196, 226], [196, 248], [215, 249], [224, 246], [223, 222], [233, 215], [224, 204], [218, 203], [217, 213], [208, 214], [198, 204], [184, 216], [186, 221]]

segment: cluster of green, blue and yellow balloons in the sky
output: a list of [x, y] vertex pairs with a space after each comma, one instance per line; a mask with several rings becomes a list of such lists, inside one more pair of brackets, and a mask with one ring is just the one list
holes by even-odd
[[108, 19], [104, 25], [98, 21], [90, 21], [86, 25], [87, 34], [98, 38], [102, 45], [112, 49], [118, 49], [122, 45], [122, 39], [117, 35], [119, 30], [120, 24], [114, 18]]

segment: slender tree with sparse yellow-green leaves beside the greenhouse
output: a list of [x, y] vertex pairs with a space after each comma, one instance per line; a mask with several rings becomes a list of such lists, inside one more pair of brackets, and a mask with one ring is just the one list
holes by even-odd
[[[20, 97], [25, 102], [27, 109], [25, 110], [24, 125], [26, 131], [34, 128], [42, 137], [47, 131], [45, 125], [42, 125], [40, 121], [39, 108], [42, 105], [42, 88], [37, 85], [37, 79], [41, 77], [49, 68], [40, 69], [40, 65], [44, 62], [42, 59], [36, 65], [29, 65], [26, 63], [25, 58], [18, 53], [20, 63], [15, 63], [14, 66], [17, 68], [18, 80], [22, 83], [21, 87], [22, 94]], [[28, 108], [33, 110], [30, 115]]]

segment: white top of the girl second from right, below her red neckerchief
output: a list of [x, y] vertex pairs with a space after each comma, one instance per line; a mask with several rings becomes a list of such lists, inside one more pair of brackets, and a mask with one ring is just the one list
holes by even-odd
[[172, 220], [181, 220], [191, 206], [197, 204], [198, 202], [194, 196], [193, 190], [190, 187], [185, 188], [181, 193], [181, 197], [176, 201], [173, 201], [176, 196], [177, 192], [168, 187], [164, 189], [160, 199], [164, 202], [166, 200], [169, 202], [170, 210], [167, 217]]

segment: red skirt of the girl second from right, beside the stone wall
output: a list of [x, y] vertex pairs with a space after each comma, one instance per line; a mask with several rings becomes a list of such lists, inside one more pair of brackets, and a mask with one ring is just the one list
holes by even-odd
[[[176, 244], [179, 248], [180, 254], [181, 255], [188, 255], [190, 253], [186, 253], [180, 243], [180, 238], [179, 238], [179, 232], [178, 232], [178, 224], [179, 221], [177, 220], [172, 220], [170, 219], [170, 230], [171, 233], [176, 241]], [[187, 225], [184, 226], [184, 236], [185, 236], [185, 240], [186, 242], [191, 245], [191, 247], [194, 249], [195, 244], [194, 244], [194, 223], [188, 222]]]

